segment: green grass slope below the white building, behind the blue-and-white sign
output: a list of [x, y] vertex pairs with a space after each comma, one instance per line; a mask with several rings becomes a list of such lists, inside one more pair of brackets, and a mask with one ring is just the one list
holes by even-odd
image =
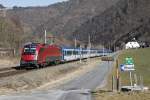
[[[144, 85], [150, 86], [150, 48], [123, 51], [118, 57], [119, 65], [124, 63], [126, 57], [133, 58], [136, 69], [134, 73], [143, 77]], [[120, 72], [120, 76], [123, 85], [129, 84], [128, 72]]]

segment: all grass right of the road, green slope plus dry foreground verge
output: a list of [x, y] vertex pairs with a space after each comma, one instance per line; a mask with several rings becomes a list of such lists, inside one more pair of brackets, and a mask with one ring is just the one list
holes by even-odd
[[[138, 77], [141, 75], [144, 85], [150, 87], [150, 48], [122, 51], [118, 56], [119, 65], [124, 63], [126, 57], [133, 58], [136, 69], [133, 73], [136, 73]], [[114, 72], [115, 71], [112, 72], [113, 75]], [[120, 78], [122, 85], [130, 85], [128, 72], [120, 72]], [[111, 86], [111, 78], [108, 80], [108, 83], [110, 83], [109, 86]], [[97, 91], [93, 93], [93, 96], [95, 100], [150, 100], [149, 91], [143, 93]]]

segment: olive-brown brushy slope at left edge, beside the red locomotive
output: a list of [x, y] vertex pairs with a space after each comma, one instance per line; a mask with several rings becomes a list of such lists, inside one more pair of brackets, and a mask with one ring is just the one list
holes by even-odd
[[16, 54], [28, 41], [36, 41], [38, 38], [32, 34], [25, 33], [17, 16], [4, 17], [3, 10], [0, 10], [0, 48], [15, 49]]

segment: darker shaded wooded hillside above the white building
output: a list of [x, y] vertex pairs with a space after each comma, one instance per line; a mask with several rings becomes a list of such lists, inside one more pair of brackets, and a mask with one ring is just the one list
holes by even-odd
[[95, 43], [106, 46], [121, 46], [133, 37], [150, 42], [149, 7], [148, 0], [120, 0], [115, 6], [85, 22], [74, 34], [85, 40], [85, 35], [89, 33], [94, 36]]

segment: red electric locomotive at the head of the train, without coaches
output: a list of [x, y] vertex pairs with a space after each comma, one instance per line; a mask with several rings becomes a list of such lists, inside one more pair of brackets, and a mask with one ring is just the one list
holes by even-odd
[[49, 63], [61, 62], [62, 50], [57, 45], [30, 43], [23, 47], [21, 67], [43, 67]]

